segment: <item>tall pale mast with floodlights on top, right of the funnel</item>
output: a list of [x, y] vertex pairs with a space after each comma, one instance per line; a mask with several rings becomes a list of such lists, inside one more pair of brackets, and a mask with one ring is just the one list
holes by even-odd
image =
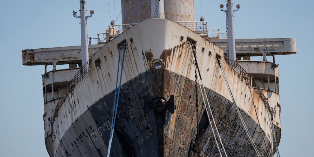
[[236, 44], [235, 44], [235, 33], [233, 25], [233, 12], [240, 9], [240, 4], [236, 5], [237, 10], [233, 10], [232, 0], [227, 0], [227, 10], [223, 10], [224, 5], [220, 4], [221, 11], [226, 12], [227, 14], [227, 28], [228, 28], [228, 52], [229, 59], [236, 61]]

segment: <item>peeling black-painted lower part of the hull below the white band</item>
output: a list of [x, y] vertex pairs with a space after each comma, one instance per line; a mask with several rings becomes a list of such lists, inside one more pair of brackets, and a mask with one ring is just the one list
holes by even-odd
[[[195, 82], [176, 73], [162, 71], [168, 75], [167, 80], [164, 80], [167, 82], [165, 88], [170, 89], [169, 95], [175, 96], [176, 105], [174, 114], [171, 114], [168, 109], [163, 112], [165, 116], [164, 136], [157, 135], [158, 127], [155, 118], [156, 114], [158, 115], [160, 112], [156, 112], [154, 109], [149, 109], [147, 113], [144, 111], [146, 103], [144, 97], [148, 96], [149, 100], [155, 97], [154, 92], [151, 91], [154, 89], [151, 86], [152, 78], [155, 79], [154, 72], [150, 70], [121, 86], [110, 156], [158, 157], [196, 154], [192, 150], [197, 134]], [[179, 87], [183, 87], [183, 89], [179, 89]], [[210, 106], [228, 156], [255, 156], [235, 106], [210, 89], [207, 89], [207, 94], [209, 94]], [[207, 116], [203, 114], [204, 106], [201, 105], [203, 100], [200, 92], [198, 95], [199, 116], [203, 115], [199, 118], [201, 119], [200, 127], [205, 129], [205, 132], [201, 133], [200, 152], [203, 156], [218, 157], [218, 149], [208, 126]], [[56, 156], [107, 156], [114, 96], [115, 91], [105, 95], [78, 117], [60, 140], [55, 151]], [[268, 156], [267, 149], [271, 151], [271, 144], [265, 133], [261, 132], [259, 125], [245, 112], [242, 111], [241, 114], [260, 153], [262, 156]], [[171, 121], [176, 121], [174, 126], [170, 125]], [[162, 146], [163, 154], [158, 152], [158, 137], [164, 137], [162, 140], [165, 142]]]

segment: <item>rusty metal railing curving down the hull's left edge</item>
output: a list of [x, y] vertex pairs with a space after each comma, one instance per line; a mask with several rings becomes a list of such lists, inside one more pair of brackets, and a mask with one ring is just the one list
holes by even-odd
[[62, 95], [58, 101], [55, 112], [53, 114], [51, 125], [53, 125], [53, 122], [55, 122], [55, 118], [57, 116], [59, 109], [61, 108], [65, 99], [68, 97], [68, 93], [69, 93], [68, 90], [73, 91], [73, 88], [76, 86], [76, 84], [78, 84], [78, 82], [84, 77], [84, 75], [87, 72], [89, 72], [91, 65], [92, 65], [92, 58], [90, 58], [89, 61], [83, 67], [81, 67], [81, 69], [78, 71], [78, 73], [76, 73], [75, 76], [71, 79], [70, 83], [68, 84], [68, 88], [66, 88], [63, 91], [63, 93], [62, 93]]

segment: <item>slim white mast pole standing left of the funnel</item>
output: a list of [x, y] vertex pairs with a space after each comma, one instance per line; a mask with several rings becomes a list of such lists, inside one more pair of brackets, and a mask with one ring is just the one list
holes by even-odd
[[88, 44], [87, 44], [87, 20], [86, 20], [86, 7], [85, 0], [80, 0], [81, 6], [81, 52], [82, 52], [82, 65], [85, 65], [89, 60]]

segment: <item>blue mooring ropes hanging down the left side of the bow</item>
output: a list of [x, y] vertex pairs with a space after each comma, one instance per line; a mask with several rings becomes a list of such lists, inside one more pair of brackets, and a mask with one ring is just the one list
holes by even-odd
[[[109, 157], [110, 149], [111, 149], [111, 143], [112, 143], [112, 137], [115, 129], [115, 123], [116, 123], [116, 114], [118, 109], [118, 102], [119, 102], [119, 95], [120, 95], [120, 89], [121, 89], [121, 79], [122, 79], [122, 70], [123, 70], [123, 61], [124, 61], [124, 52], [125, 52], [125, 45], [123, 46], [123, 56], [122, 56], [122, 65], [121, 65], [121, 74], [120, 74], [120, 83], [119, 83], [119, 91], [118, 91], [118, 98], [116, 97], [117, 91], [115, 93], [115, 101], [113, 103], [113, 113], [112, 113], [112, 122], [111, 122], [111, 132], [110, 132], [110, 139], [109, 139], [109, 145], [108, 145], [108, 154], [107, 157]], [[119, 64], [120, 64], [120, 51], [122, 46], [119, 49], [119, 60], [118, 60], [118, 70], [117, 70], [117, 80], [116, 80], [116, 90], [118, 85], [118, 76], [119, 76]]]

